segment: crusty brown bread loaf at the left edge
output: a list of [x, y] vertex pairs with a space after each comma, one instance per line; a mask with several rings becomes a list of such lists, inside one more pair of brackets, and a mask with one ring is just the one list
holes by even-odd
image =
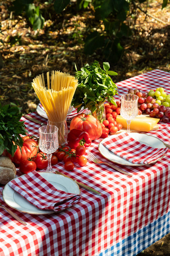
[[6, 184], [16, 176], [16, 168], [8, 156], [0, 156], [0, 184]]

